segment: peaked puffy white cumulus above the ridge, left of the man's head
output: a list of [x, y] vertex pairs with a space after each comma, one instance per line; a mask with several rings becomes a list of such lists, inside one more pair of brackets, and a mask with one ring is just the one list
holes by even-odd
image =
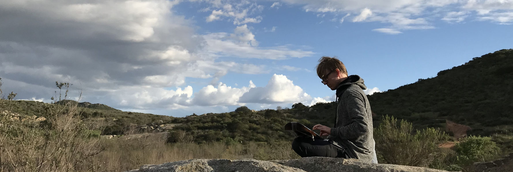
[[311, 100], [310, 95], [287, 79], [286, 76], [274, 74], [265, 87], [249, 89], [240, 98], [241, 103], [298, 103]]

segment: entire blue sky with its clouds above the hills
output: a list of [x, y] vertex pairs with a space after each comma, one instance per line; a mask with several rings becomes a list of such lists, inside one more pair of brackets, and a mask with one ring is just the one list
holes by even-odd
[[513, 0], [0, 0], [1, 89], [176, 117], [311, 106], [335, 100], [322, 56], [372, 94], [513, 48], [512, 23]]

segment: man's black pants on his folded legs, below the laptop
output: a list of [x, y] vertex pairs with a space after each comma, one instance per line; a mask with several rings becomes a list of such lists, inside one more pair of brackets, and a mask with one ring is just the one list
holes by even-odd
[[301, 157], [349, 158], [342, 148], [321, 139], [296, 137], [292, 141], [292, 150]]

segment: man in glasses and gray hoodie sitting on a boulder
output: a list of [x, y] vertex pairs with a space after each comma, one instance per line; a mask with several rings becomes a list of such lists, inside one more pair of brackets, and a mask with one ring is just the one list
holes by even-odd
[[292, 149], [301, 157], [356, 158], [378, 163], [372, 136], [372, 114], [369, 101], [363, 92], [367, 87], [357, 75], [347, 76], [347, 70], [337, 58], [322, 57], [317, 65], [317, 75], [331, 90], [337, 90], [335, 126], [313, 126], [326, 140], [297, 137]]

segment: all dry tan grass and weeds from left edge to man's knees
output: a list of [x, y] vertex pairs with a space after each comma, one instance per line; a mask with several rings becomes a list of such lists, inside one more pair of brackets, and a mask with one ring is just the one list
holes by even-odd
[[[0, 78], [0, 87], [2, 85]], [[68, 83], [52, 97], [67, 97]], [[58, 95], [57, 95], [58, 94]], [[12, 112], [15, 93], [4, 99], [0, 89], [0, 172], [3, 171], [126, 171], [143, 164], [160, 164], [187, 159], [259, 160], [299, 158], [290, 142], [277, 143], [191, 143], [190, 136], [175, 132], [178, 143], [166, 143], [168, 135], [125, 139], [91, 137], [90, 130], [102, 130], [105, 121], [81, 119], [76, 103], [48, 104], [45, 115], [29, 116]], [[127, 132], [134, 133], [135, 132]], [[176, 137], [174, 136], [174, 137]]]

